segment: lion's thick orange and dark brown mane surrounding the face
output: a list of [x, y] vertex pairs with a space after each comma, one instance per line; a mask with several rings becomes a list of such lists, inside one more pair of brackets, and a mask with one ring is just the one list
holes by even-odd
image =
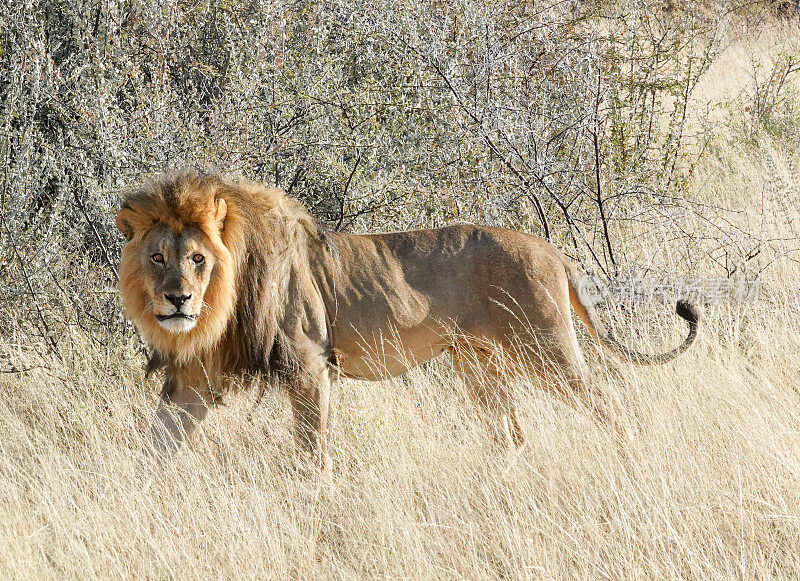
[[[220, 199], [227, 205], [221, 228]], [[156, 351], [151, 367], [194, 358], [223, 373], [290, 365], [280, 321], [291, 273], [308, 268], [309, 244], [326, 241], [299, 202], [278, 189], [184, 170], [129, 193], [122, 207], [129, 210], [135, 234], [123, 251], [120, 292], [126, 313]], [[146, 278], [136, 257], [147, 231], [158, 223], [176, 232], [197, 225], [213, 246], [216, 263], [202, 315], [188, 333], [162, 329], [149, 313]]]

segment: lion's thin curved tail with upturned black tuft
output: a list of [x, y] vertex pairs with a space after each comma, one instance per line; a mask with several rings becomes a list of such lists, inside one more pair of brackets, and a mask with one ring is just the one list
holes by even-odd
[[672, 361], [678, 355], [686, 351], [697, 337], [700, 312], [691, 303], [680, 300], [675, 305], [675, 312], [689, 324], [689, 334], [680, 345], [670, 351], [654, 354], [639, 353], [628, 349], [614, 338], [611, 331], [605, 328], [605, 325], [603, 325], [594, 307], [581, 302], [580, 293], [578, 292], [580, 279], [578, 270], [568, 262], [566, 262], [564, 266], [567, 271], [567, 278], [569, 279], [569, 299], [572, 303], [572, 308], [575, 309], [575, 312], [578, 314], [581, 321], [583, 321], [583, 324], [589, 330], [592, 337], [604, 347], [611, 349], [621, 357], [641, 365], [666, 363], [667, 361]]

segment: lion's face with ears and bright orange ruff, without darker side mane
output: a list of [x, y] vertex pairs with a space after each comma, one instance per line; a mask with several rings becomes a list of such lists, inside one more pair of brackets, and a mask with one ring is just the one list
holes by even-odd
[[213, 189], [190, 183], [170, 200], [158, 190], [130, 195], [117, 215], [127, 239], [122, 305], [162, 354], [186, 360], [213, 349], [227, 328], [236, 303], [235, 260], [223, 239], [236, 218], [226, 222], [227, 213]]

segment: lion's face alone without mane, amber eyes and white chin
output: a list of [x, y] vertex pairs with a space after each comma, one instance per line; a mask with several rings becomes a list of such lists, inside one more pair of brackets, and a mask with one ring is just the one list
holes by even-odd
[[188, 333], [203, 315], [216, 258], [196, 226], [182, 232], [157, 225], [142, 239], [137, 257], [152, 316], [170, 333]]

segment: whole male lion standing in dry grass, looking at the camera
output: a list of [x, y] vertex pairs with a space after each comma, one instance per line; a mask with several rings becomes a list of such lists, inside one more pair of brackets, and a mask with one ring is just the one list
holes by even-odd
[[328, 472], [332, 382], [394, 377], [444, 352], [492, 412], [482, 417], [519, 448], [497, 350], [588, 401], [570, 306], [599, 344], [637, 363], [669, 361], [697, 335], [698, 311], [679, 301], [689, 333], [678, 347], [627, 349], [582, 302], [560, 250], [502, 228], [330, 232], [279, 189], [193, 170], [129, 193], [117, 225], [124, 311], [152, 347], [149, 371], [164, 370], [151, 437], [167, 455], [232, 379], [256, 377], [285, 386], [296, 442]]

